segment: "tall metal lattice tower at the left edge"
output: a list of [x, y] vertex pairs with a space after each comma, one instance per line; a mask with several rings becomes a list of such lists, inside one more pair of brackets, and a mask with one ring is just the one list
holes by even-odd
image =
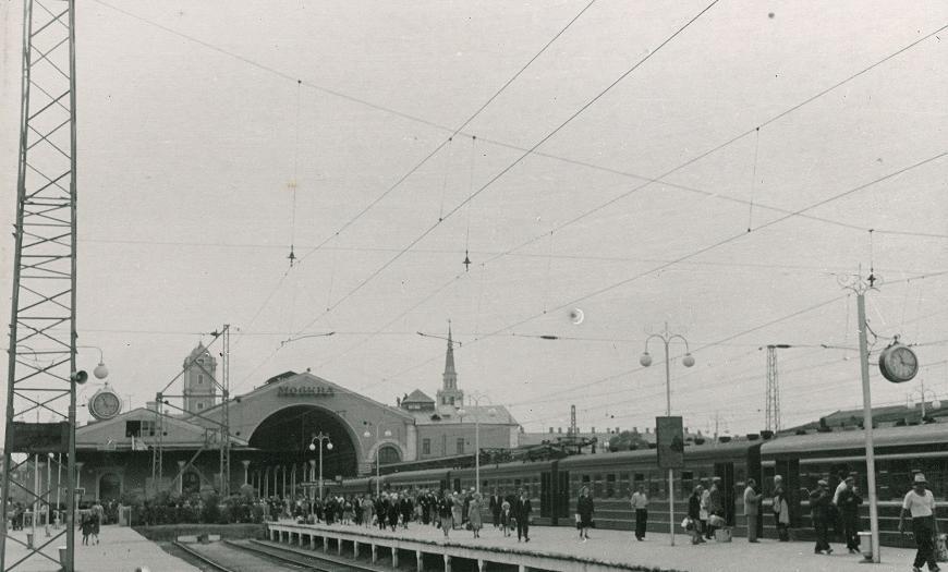
[[[52, 560], [41, 550], [62, 544], [66, 572], [75, 553], [76, 351], [76, 114], [74, 0], [25, 0], [16, 181], [15, 251], [7, 378], [3, 494], [48, 504], [50, 483], [31, 483], [21, 471], [34, 455], [66, 467], [66, 525], [26, 546], [8, 535], [7, 503], [0, 515], [0, 569], [27, 559]], [[36, 419], [35, 423], [32, 423]], [[47, 423], [40, 423], [45, 421]], [[39, 486], [37, 486], [39, 483]], [[7, 558], [7, 543], [26, 555]], [[54, 544], [53, 544], [54, 543]]]

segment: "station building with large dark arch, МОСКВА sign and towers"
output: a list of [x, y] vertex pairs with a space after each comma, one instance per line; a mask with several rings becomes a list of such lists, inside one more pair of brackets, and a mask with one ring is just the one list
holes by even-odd
[[[231, 399], [230, 490], [250, 485], [262, 496], [312, 495], [320, 450], [321, 476], [331, 485], [370, 474], [377, 462], [474, 454], [478, 441], [482, 449], [516, 447], [521, 428], [506, 407], [465, 403], [450, 330], [448, 338], [437, 400], [415, 390], [387, 405], [309, 372], [277, 375]], [[181, 395], [80, 427], [82, 499], [219, 490], [224, 431], [217, 366], [198, 345], [182, 364]]]

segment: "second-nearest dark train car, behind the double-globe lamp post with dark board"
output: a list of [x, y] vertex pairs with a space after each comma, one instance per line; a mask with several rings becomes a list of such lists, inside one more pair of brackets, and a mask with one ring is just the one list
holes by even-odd
[[[680, 522], [688, 513], [688, 498], [695, 485], [720, 477], [725, 518], [733, 526], [745, 480], [748, 477], [757, 480], [762, 477], [761, 445], [759, 441], [741, 440], [688, 446], [684, 468], [673, 472], [674, 520]], [[643, 485], [649, 500], [648, 530], [668, 532], [668, 472], [658, 468], [655, 449], [574, 455], [560, 460], [558, 465], [557, 483], [567, 484], [567, 490], [555, 490], [554, 495], [567, 496], [564, 515], [570, 518], [558, 519], [556, 524], [574, 524], [572, 515], [580, 490], [586, 486], [595, 504], [597, 527], [632, 530], [635, 522], [629, 499], [632, 491]]]

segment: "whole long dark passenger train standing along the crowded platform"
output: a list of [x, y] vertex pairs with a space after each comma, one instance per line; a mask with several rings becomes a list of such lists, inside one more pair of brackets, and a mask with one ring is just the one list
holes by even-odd
[[[879, 499], [883, 544], [900, 545], [895, 532], [901, 498], [911, 487], [914, 473], [927, 476], [939, 501], [948, 495], [948, 424], [877, 428], [873, 431], [876, 458], [876, 486]], [[726, 439], [721, 439], [726, 440]], [[791, 502], [792, 527], [799, 538], [809, 537], [809, 491], [821, 478], [835, 487], [840, 478], [853, 475], [858, 487], [866, 490], [865, 445], [860, 429], [780, 436], [763, 440], [749, 436], [685, 448], [685, 466], [674, 471], [674, 518], [680, 521], [688, 497], [695, 485], [720, 477], [725, 492], [726, 520], [734, 534], [746, 534], [742, 492], [749, 477], [763, 484], [764, 519], [759, 531], [776, 538], [773, 515], [767, 510], [774, 489], [774, 475], [782, 475]], [[428, 488], [462, 490], [474, 486], [475, 470], [428, 468], [344, 479], [335, 487], [342, 494]], [[573, 525], [579, 491], [588, 486], [595, 502], [596, 526], [631, 530], [634, 515], [629, 507], [632, 490], [644, 485], [649, 497], [648, 528], [669, 530], [667, 472], [657, 466], [656, 450], [578, 454], [556, 460], [482, 464], [481, 490], [501, 495], [526, 489], [534, 506], [534, 522], [545, 525]], [[944, 504], [943, 504], [944, 506]], [[537, 510], [538, 509], [538, 510]], [[867, 503], [862, 507], [863, 528], [868, 530]], [[943, 509], [944, 510], [944, 509]], [[948, 516], [948, 511], [939, 519]], [[489, 520], [489, 519], [488, 519]], [[680, 530], [679, 530], [680, 531]]]

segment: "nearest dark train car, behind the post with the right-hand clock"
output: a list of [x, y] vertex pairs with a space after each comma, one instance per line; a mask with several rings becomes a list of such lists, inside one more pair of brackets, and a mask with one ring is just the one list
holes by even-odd
[[[915, 473], [923, 473], [936, 502], [948, 500], [948, 424], [906, 427], [884, 427], [873, 430], [876, 490], [879, 509], [879, 541], [887, 546], [903, 546], [898, 534], [901, 500], [911, 488]], [[792, 496], [791, 527], [798, 537], [811, 537], [810, 490], [821, 478], [835, 489], [840, 476], [855, 477], [856, 487], [867, 490], [865, 436], [862, 430], [838, 430], [780, 437], [761, 450], [765, 473], [765, 494], [773, 490], [774, 475], [783, 477], [783, 486]], [[861, 507], [862, 530], [868, 531], [868, 503]], [[939, 530], [946, 530], [948, 514], [938, 511]], [[774, 532], [773, 514], [764, 511], [768, 536]]]

